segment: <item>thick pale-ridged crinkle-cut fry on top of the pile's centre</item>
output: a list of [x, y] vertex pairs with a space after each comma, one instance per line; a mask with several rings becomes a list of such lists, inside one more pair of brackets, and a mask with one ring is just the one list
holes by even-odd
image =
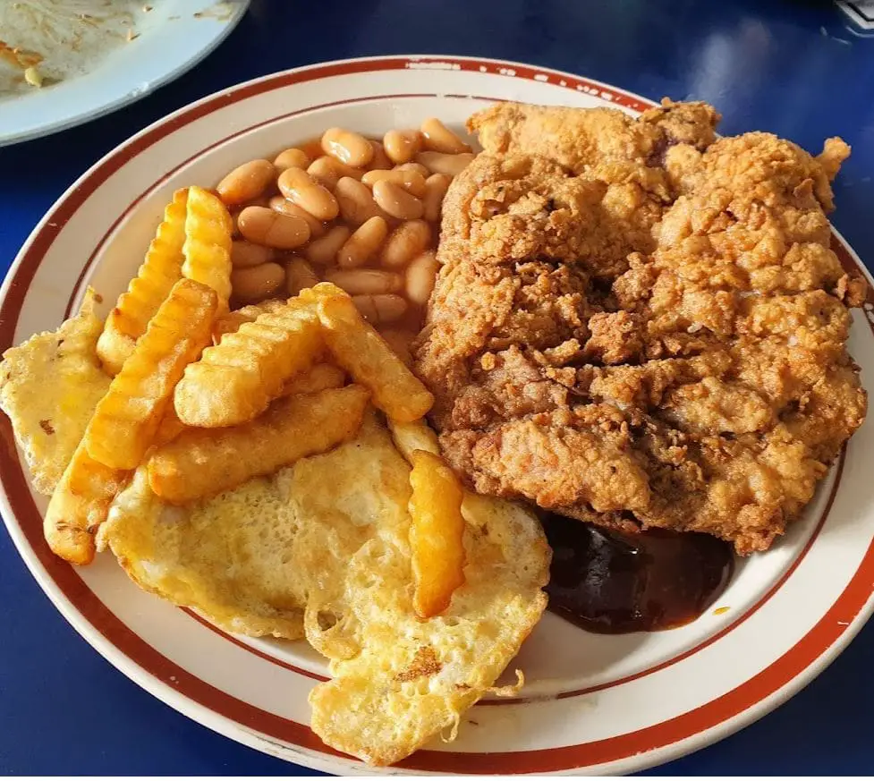
[[205, 429], [253, 420], [282, 393], [287, 379], [316, 361], [321, 331], [311, 307], [290, 299], [225, 334], [185, 369], [174, 395], [179, 420]]

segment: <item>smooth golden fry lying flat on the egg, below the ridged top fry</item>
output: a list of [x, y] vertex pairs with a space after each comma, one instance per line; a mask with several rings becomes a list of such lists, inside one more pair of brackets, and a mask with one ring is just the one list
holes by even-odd
[[361, 428], [368, 391], [356, 385], [274, 402], [256, 420], [230, 429], [189, 429], [148, 459], [158, 497], [183, 504], [272, 474], [324, 453]]

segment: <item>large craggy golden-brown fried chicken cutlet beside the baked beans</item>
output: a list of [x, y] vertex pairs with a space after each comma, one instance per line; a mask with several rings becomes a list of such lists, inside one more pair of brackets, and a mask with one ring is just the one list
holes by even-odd
[[767, 549], [866, 412], [845, 349], [864, 284], [828, 247], [819, 157], [717, 113], [499, 104], [444, 203], [416, 345], [480, 493]]

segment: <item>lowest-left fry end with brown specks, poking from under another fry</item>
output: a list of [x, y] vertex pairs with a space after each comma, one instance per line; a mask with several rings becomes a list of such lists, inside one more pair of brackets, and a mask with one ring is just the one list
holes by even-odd
[[91, 563], [94, 535], [130, 474], [95, 461], [84, 440], [81, 442], [52, 494], [43, 521], [43, 534], [53, 553], [71, 564]]

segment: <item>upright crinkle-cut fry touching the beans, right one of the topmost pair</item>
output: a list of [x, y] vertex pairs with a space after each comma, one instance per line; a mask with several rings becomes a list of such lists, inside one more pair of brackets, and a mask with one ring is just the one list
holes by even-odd
[[233, 221], [221, 199], [201, 187], [190, 187], [182, 276], [216, 291], [222, 312], [231, 297], [232, 232]]

